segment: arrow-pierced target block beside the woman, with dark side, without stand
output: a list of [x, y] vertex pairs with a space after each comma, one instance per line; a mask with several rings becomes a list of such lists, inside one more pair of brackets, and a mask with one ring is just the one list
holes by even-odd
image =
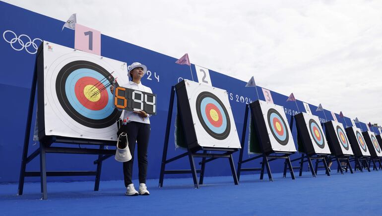
[[37, 72], [39, 140], [117, 140], [116, 121], [122, 111], [115, 109], [107, 85], [115, 77], [128, 82], [126, 63], [44, 41]]

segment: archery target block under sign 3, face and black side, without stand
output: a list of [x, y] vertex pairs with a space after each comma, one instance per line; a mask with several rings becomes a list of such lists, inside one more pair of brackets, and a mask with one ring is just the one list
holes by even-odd
[[296, 152], [292, 133], [282, 106], [256, 100], [250, 104], [260, 148], [264, 153]]

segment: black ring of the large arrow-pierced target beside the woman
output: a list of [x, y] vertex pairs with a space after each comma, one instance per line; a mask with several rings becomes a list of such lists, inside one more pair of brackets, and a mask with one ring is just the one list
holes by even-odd
[[[68, 76], [78, 70], [78, 69], [90, 69], [95, 72], [98, 72], [99, 74], [102, 75], [102, 77], [107, 77], [109, 82], [112, 82], [114, 80], [113, 76], [103, 67], [92, 63], [88, 61], [73, 61], [68, 64], [66, 64], [60, 72], [57, 74], [57, 79], [56, 79], [56, 93], [58, 100], [60, 101], [60, 104], [64, 111], [69, 115], [74, 121], [77, 123], [89, 127], [89, 128], [95, 128], [95, 129], [100, 129], [100, 128], [107, 128], [112, 126], [113, 124], [116, 123], [116, 121], [119, 119], [121, 116], [121, 111], [118, 111], [118, 109], [114, 109], [110, 115], [108, 115], [105, 118], [102, 119], [92, 119], [88, 118], [81, 113], [79, 113], [69, 102], [69, 99], [67, 98], [67, 93], [65, 90], [65, 85]], [[97, 75], [99, 75], [97, 74]], [[116, 86], [118, 86], [118, 83], [116, 83]]]

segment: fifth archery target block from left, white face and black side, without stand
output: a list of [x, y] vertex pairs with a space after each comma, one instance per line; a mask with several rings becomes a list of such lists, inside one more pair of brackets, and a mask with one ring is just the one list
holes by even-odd
[[327, 142], [332, 154], [335, 156], [354, 155], [343, 125], [335, 121], [325, 122], [324, 125]]

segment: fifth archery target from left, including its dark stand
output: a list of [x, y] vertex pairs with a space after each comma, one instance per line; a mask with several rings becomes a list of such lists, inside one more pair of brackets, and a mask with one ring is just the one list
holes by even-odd
[[[342, 124], [335, 121], [328, 121], [323, 123], [322, 126], [325, 128], [326, 139], [332, 153], [327, 162], [337, 162], [337, 173], [340, 172], [343, 175], [342, 168], [345, 168], [346, 172], [349, 169], [350, 173], [353, 174], [349, 158], [353, 157], [354, 153], [350, 147]], [[342, 165], [341, 162], [345, 162], [346, 165]]]

